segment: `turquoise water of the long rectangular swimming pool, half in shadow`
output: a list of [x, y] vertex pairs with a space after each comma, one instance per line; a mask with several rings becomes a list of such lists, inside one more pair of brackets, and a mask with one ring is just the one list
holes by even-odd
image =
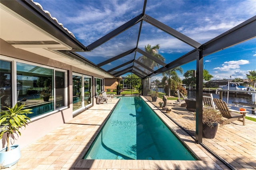
[[196, 160], [141, 97], [118, 98], [84, 159]]

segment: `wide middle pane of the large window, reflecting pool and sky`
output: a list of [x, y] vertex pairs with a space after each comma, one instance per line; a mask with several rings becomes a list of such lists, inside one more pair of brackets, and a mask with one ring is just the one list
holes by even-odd
[[25, 103], [36, 117], [54, 110], [54, 70], [17, 62], [17, 103]]

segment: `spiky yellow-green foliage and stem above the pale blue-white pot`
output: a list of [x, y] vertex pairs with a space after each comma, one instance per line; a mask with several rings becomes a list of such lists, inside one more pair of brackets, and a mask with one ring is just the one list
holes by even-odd
[[0, 126], [3, 126], [0, 133], [0, 139], [5, 133], [7, 133], [6, 151], [10, 150], [10, 136], [14, 133], [21, 135], [19, 129], [22, 127], [26, 127], [26, 125], [28, 125], [28, 121], [30, 121], [30, 118], [27, 117], [27, 115], [32, 113], [32, 109], [22, 110], [24, 106], [25, 103], [23, 105], [20, 105], [19, 107], [16, 103], [14, 107], [6, 107], [8, 110], [1, 110], [0, 112]]

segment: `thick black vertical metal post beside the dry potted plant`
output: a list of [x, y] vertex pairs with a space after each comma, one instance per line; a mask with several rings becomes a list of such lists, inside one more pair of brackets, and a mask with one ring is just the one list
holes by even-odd
[[202, 143], [203, 138], [203, 70], [202, 51], [196, 51], [196, 142]]

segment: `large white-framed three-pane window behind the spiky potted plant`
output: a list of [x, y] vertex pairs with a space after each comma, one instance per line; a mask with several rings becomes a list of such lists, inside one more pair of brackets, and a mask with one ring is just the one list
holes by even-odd
[[28, 117], [33, 118], [67, 106], [67, 71], [19, 61], [0, 63], [1, 109], [25, 104], [24, 109], [33, 112]]

